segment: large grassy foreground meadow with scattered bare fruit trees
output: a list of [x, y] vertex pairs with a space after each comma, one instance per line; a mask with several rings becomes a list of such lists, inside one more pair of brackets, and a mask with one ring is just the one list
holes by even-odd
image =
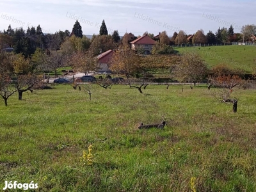
[[[0, 188], [36, 191], [255, 191], [255, 90], [239, 90], [238, 111], [206, 86], [125, 85], [86, 92], [70, 85], [14, 95], [0, 106]], [[164, 129], [139, 130], [167, 121]], [[92, 144], [93, 164], [83, 150]], [[191, 186], [191, 178], [195, 185]]]

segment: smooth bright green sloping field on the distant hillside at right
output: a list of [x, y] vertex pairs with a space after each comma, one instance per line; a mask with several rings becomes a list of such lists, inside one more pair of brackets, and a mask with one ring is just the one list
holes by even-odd
[[252, 73], [256, 67], [256, 46], [251, 45], [226, 45], [212, 47], [180, 47], [175, 48], [180, 53], [184, 51], [197, 51], [209, 64], [214, 67], [220, 63], [232, 68], [243, 69], [246, 73]]

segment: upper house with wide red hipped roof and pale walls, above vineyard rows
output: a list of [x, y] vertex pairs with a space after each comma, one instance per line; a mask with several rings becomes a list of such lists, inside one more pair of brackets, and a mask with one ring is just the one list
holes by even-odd
[[130, 42], [131, 49], [136, 50], [138, 48], [143, 48], [145, 50], [145, 54], [150, 54], [153, 45], [156, 43], [157, 42], [152, 40], [152, 38], [150, 38], [147, 34]]

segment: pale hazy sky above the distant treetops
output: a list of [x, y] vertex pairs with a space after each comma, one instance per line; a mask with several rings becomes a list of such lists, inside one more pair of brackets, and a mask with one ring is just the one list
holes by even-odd
[[185, 31], [188, 35], [203, 29], [216, 32], [233, 25], [235, 33], [245, 24], [256, 24], [256, 1], [234, 0], [0, 0], [0, 31], [28, 29], [40, 24], [44, 33], [68, 29], [80, 22], [84, 35], [99, 34], [105, 20], [109, 34], [142, 35]]

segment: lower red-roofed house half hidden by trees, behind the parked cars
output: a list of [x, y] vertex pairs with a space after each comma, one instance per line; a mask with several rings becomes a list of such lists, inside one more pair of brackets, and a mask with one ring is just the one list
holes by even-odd
[[99, 63], [98, 65], [99, 69], [97, 70], [97, 72], [110, 72], [109, 64], [110, 64], [112, 55], [113, 55], [113, 51], [109, 49], [108, 51], [102, 52], [97, 56], [97, 60]]

